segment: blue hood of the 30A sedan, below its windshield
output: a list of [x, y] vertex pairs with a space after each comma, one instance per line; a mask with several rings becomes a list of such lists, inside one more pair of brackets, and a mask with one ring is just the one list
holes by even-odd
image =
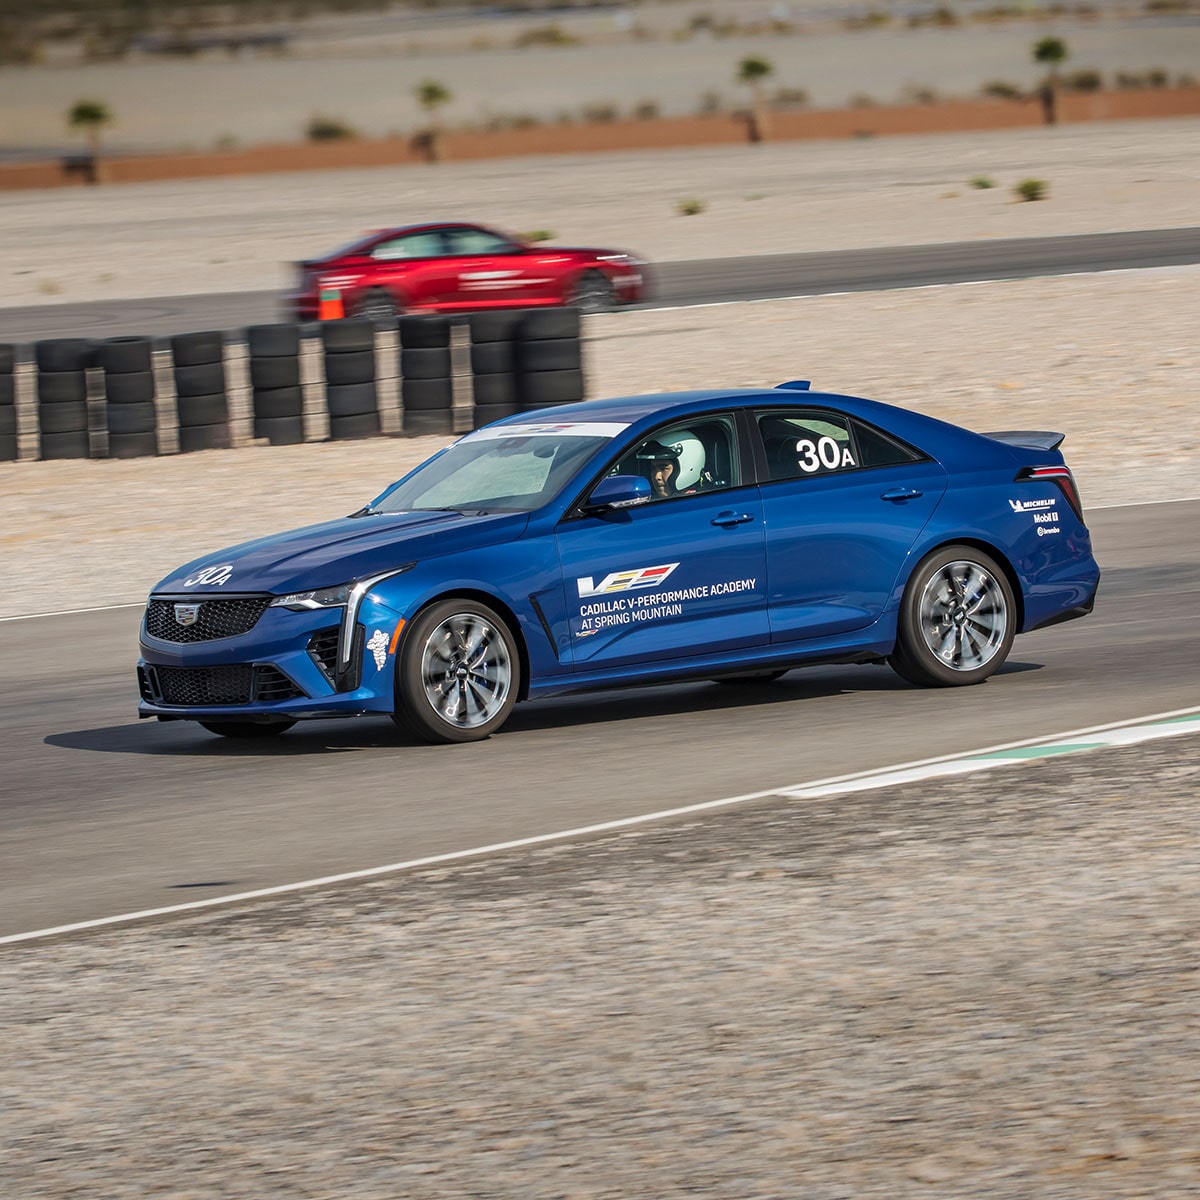
[[155, 592], [307, 592], [379, 575], [422, 558], [518, 538], [528, 512], [380, 512], [340, 517], [193, 558]]

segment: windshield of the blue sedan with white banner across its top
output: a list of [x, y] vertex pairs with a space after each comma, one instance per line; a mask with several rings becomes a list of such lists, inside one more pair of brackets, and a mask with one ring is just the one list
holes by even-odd
[[509, 425], [482, 428], [418, 467], [370, 509], [532, 512], [623, 426]]

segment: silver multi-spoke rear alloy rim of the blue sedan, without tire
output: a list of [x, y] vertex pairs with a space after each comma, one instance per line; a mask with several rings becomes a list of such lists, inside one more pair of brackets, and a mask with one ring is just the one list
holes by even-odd
[[947, 563], [920, 594], [919, 620], [938, 662], [952, 671], [978, 671], [996, 656], [1008, 631], [1004, 589], [978, 563]]

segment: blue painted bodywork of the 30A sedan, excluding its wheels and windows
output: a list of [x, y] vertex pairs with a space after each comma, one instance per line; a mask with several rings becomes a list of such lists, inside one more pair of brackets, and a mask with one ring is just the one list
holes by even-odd
[[[670, 503], [582, 508], [655, 431], [709, 416], [732, 431], [728, 478]], [[852, 432], [842, 442], [772, 439], [768, 418], [792, 433], [787, 420]], [[628, 396], [509, 418], [439, 452], [359, 514], [167, 575], [143, 623], [139, 713], [208, 721], [391, 713], [404, 629], [448, 596], [478, 599], [510, 625], [523, 698], [884, 658], [914, 569], [952, 544], [1001, 564], [1021, 631], [1082, 616], [1099, 568], [1070, 488], [1022, 478], [1064, 467], [1046, 448], [1054, 438], [1038, 437], [998, 440], [796, 386]], [[871, 439], [900, 450], [875, 464]], [[514, 449], [514, 496], [503, 503], [389, 510], [448, 464], [497, 444]], [[550, 452], [559, 444], [574, 448], [570, 456]], [[780, 454], [798, 456], [799, 474], [779, 476], [772, 456]], [[569, 470], [556, 479], [560, 461]], [[343, 587], [353, 599], [341, 604], [271, 605]]]

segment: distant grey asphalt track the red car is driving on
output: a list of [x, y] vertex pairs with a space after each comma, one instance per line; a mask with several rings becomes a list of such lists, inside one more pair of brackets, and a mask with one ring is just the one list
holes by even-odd
[[[888, 246], [808, 254], [757, 254], [650, 264], [653, 296], [640, 307], [768, 300], [828, 292], [1016, 280], [1200, 263], [1200, 228], [1140, 229], [1063, 238]], [[156, 296], [0, 308], [0, 342], [47, 337], [156, 337], [240, 329], [286, 319], [275, 292]]]

